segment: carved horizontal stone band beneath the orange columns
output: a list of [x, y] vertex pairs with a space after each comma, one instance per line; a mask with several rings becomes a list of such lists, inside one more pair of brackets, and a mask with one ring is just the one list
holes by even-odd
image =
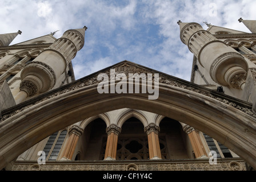
[[242, 160], [218, 160], [217, 164], [209, 164], [209, 159], [193, 161], [127, 161], [110, 160], [107, 162], [54, 161], [38, 165], [32, 162], [16, 162], [12, 171], [246, 171]]

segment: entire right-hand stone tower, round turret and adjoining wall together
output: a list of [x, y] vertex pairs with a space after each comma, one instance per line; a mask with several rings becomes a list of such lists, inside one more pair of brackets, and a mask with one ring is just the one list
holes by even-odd
[[[254, 20], [239, 19], [252, 33]], [[178, 22], [181, 41], [194, 54], [191, 81], [251, 102], [255, 109], [255, 35], [207, 24]]]

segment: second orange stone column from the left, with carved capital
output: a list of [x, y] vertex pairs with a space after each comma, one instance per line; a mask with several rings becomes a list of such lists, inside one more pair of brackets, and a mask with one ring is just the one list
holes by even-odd
[[121, 128], [112, 124], [106, 128], [106, 133], [107, 145], [104, 160], [115, 160], [117, 158], [118, 135], [121, 133]]

